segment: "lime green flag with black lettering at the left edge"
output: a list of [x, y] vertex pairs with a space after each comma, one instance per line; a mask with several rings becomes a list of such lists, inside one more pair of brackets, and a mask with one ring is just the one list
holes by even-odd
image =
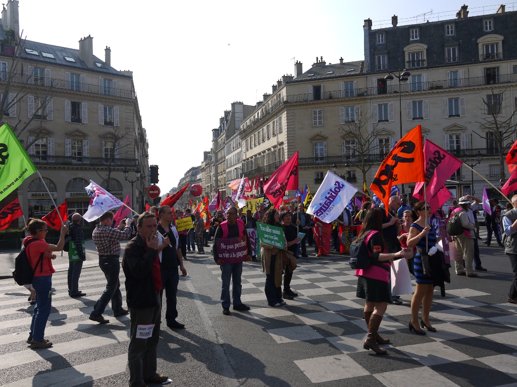
[[0, 200], [36, 171], [20, 140], [6, 122], [0, 127]]

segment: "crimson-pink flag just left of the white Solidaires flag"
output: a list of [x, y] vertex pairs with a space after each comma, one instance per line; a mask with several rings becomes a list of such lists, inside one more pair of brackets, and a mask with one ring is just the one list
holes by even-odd
[[298, 189], [298, 151], [271, 175], [264, 186], [264, 194], [274, 208], [282, 202], [286, 190]]

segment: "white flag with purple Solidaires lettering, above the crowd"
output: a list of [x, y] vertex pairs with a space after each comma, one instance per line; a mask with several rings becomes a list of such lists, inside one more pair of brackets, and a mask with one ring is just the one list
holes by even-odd
[[344, 181], [337, 174], [327, 171], [325, 179], [307, 208], [307, 213], [329, 223], [341, 215], [356, 192], [355, 186]]

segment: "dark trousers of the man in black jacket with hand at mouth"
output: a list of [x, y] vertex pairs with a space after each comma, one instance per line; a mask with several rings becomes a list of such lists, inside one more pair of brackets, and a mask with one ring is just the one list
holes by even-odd
[[[142, 387], [145, 380], [156, 375], [156, 347], [160, 338], [161, 299], [156, 294], [158, 306], [147, 309], [129, 308], [131, 321], [128, 348], [129, 386]], [[148, 338], [136, 337], [136, 327], [154, 324], [153, 335]]]

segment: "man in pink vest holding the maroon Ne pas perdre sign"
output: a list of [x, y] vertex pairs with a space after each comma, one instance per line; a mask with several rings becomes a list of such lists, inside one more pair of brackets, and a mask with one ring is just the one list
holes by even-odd
[[221, 254], [218, 253], [217, 239], [231, 239], [231, 238], [246, 238], [248, 247], [248, 256], [246, 262], [251, 260], [251, 244], [248, 238], [248, 233], [244, 227], [244, 222], [237, 219], [237, 208], [230, 207], [226, 212], [226, 220], [223, 221], [216, 229], [214, 236], [214, 245], [212, 251], [214, 252], [214, 261], [221, 268], [221, 305], [223, 314], [230, 315], [230, 280], [232, 280], [232, 296], [233, 309], [240, 311], [249, 311], [250, 307], [242, 303], [240, 295], [242, 292], [241, 277], [242, 277], [242, 262], [225, 263]]

